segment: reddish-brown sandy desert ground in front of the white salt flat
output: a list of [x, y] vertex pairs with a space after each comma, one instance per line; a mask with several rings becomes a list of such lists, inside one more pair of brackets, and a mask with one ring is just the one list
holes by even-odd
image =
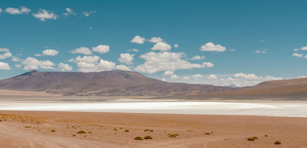
[[[0, 147], [307, 147], [307, 118], [303, 117], [0, 113]], [[144, 131], [146, 129], [153, 131]], [[80, 130], [86, 134], [77, 134]], [[168, 133], [179, 135], [170, 138]], [[134, 140], [134, 137], [146, 135], [153, 139]], [[253, 136], [258, 139], [247, 141], [246, 138]], [[274, 145], [277, 140], [282, 144]]]

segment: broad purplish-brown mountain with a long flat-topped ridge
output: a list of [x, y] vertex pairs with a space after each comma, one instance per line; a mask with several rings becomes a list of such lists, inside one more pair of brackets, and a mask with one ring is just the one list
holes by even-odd
[[0, 80], [0, 89], [85, 96], [168, 96], [228, 91], [238, 88], [169, 83], [138, 72], [39, 72]]

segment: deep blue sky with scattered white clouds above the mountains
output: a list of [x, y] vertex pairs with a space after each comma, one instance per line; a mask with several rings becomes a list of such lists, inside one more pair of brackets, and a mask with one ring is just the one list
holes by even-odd
[[252, 86], [307, 76], [307, 1], [6, 1], [0, 79], [130, 70]]

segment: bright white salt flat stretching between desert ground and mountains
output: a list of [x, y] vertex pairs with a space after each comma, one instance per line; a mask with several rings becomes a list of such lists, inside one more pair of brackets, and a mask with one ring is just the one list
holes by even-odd
[[104, 99], [99, 102], [0, 101], [0, 110], [87, 111], [307, 117], [307, 103]]

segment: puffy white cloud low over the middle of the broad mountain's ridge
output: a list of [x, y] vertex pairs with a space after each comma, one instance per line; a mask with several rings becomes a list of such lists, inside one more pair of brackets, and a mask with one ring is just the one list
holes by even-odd
[[112, 61], [100, 59], [98, 64], [78, 62], [77, 66], [81, 72], [100, 72], [116, 69], [116, 65]]

